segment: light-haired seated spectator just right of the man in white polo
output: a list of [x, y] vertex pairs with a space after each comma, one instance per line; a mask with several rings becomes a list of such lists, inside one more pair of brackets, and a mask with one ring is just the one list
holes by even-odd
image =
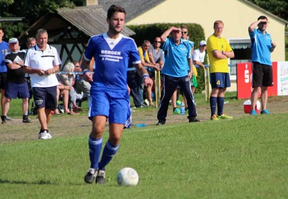
[[63, 67], [63, 72], [66, 72], [67, 74], [61, 74], [58, 75], [59, 82], [64, 85], [64, 86], [69, 86], [72, 87], [72, 89], [69, 91], [69, 108], [72, 108], [70, 110], [70, 114], [73, 114], [75, 112], [81, 111], [82, 108], [78, 107], [76, 104], [76, 93], [73, 88], [73, 79], [74, 75], [69, 74], [69, 72], [74, 72], [74, 64], [73, 63], [68, 63]]

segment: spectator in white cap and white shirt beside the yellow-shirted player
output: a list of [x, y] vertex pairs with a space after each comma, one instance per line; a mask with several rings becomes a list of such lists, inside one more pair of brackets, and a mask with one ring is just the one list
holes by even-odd
[[[205, 66], [203, 65], [203, 62], [204, 62], [204, 57], [206, 54], [205, 50], [206, 50], [206, 41], [200, 41], [199, 48], [193, 51], [193, 64], [200, 66], [201, 68], [204, 69], [204, 71], [205, 71]], [[194, 73], [194, 76], [195, 77], [192, 78], [193, 84], [191, 87], [193, 93], [195, 92], [195, 88], [198, 86], [197, 80], [196, 80], [197, 75], [195, 73]]]

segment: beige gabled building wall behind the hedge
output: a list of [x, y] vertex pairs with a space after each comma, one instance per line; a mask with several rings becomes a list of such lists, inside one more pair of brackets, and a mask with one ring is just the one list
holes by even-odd
[[[178, 2], [181, 2], [179, 4]], [[271, 54], [272, 61], [285, 61], [285, 23], [242, 0], [166, 0], [127, 24], [147, 23], [198, 23], [204, 28], [206, 39], [213, 33], [215, 20], [224, 22], [222, 36], [228, 39], [249, 39], [248, 26], [260, 15], [270, 23], [267, 32], [277, 47]]]

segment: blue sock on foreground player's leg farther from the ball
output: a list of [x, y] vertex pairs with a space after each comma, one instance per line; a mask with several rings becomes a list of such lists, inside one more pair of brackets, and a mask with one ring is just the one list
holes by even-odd
[[102, 138], [95, 139], [89, 136], [89, 157], [91, 161], [91, 168], [98, 169], [98, 161], [102, 149]]

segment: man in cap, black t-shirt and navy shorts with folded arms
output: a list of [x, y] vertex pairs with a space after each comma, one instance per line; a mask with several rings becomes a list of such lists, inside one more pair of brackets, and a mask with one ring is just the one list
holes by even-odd
[[23, 60], [25, 53], [19, 51], [19, 42], [16, 38], [9, 39], [9, 50], [11, 53], [5, 57], [7, 67], [7, 80], [5, 84], [5, 100], [2, 108], [1, 123], [6, 123], [7, 112], [10, 107], [11, 99], [22, 99], [23, 122], [30, 123], [28, 119], [28, 98], [29, 91], [26, 83], [25, 73], [23, 72]]

